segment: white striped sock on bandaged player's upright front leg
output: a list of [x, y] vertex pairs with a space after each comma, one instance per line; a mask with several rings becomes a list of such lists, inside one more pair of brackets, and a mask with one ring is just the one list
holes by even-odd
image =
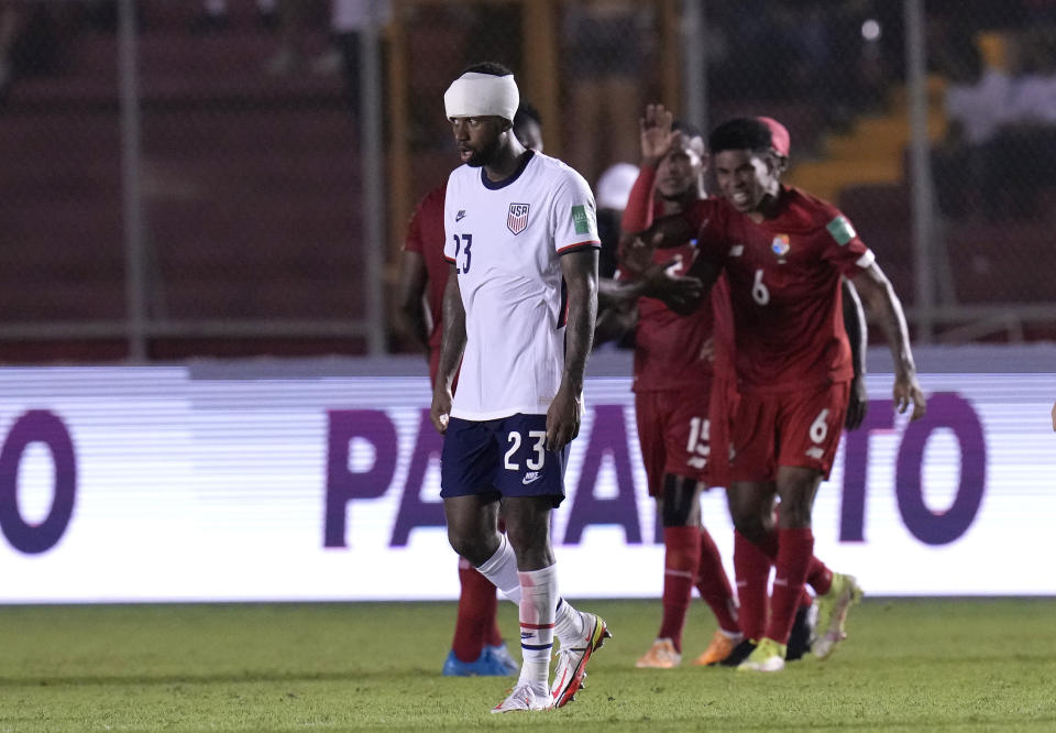
[[553, 615], [558, 604], [558, 568], [527, 570], [520, 577], [520, 666], [518, 683], [537, 692], [550, 691], [550, 655], [553, 653]]

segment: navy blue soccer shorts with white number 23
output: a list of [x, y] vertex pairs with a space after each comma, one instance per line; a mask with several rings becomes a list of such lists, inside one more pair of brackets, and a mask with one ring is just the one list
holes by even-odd
[[440, 495], [550, 496], [558, 506], [564, 500], [569, 447], [554, 452], [546, 445], [546, 415], [452, 417], [440, 455]]

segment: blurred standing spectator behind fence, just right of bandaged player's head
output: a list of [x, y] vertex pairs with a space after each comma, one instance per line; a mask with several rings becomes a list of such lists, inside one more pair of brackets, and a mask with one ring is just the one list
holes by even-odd
[[638, 156], [638, 94], [646, 69], [651, 3], [584, 0], [568, 3], [564, 58], [570, 74], [569, 163], [596, 180], [608, 161]]

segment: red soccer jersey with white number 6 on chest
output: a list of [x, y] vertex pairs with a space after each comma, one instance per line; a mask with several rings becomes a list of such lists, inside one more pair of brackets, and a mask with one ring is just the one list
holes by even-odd
[[761, 223], [726, 203], [695, 221], [698, 256], [729, 278], [741, 389], [850, 380], [839, 277], [854, 277], [875, 260], [850, 221], [831, 204], [784, 186], [778, 216]]

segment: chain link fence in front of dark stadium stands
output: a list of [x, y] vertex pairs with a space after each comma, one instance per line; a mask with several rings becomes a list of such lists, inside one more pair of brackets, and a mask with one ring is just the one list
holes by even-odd
[[919, 340], [1056, 338], [1053, 0], [0, 0], [6, 358], [400, 348], [442, 92], [484, 59], [592, 184], [648, 101], [776, 117]]

